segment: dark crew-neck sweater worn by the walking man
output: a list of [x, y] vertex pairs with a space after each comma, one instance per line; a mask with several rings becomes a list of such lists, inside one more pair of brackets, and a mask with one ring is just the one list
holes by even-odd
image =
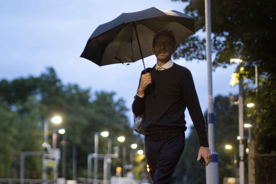
[[152, 84], [145, 90], [145, 96], [136, 95], [132, 104], [135, 115], [145, 113], [145, 121], [141, 125], [145, 135], [185, 131], [184, 111], [187, 108], [200, 146], [209, 147], [206, 122], [190, 70], [174, 63], [166, 70], [153, 67], [147, 72], [151, 73]]

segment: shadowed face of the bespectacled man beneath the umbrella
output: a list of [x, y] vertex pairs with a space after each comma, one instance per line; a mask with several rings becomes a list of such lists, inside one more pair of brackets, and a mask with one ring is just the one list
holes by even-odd
[[156, 43], [161, 42], [162, 44], [159, 46], [155, 45], [152, 47], [152, 51], [154, 55], [157, 58], [157, 61], [162, 62], [162, 63], [167, 63], [171, 57], [172, 54], [175, 52], [175, 46], [171, 45], [166, 46], [164, 42], [169, 42], [171, 43], [171, 40], [168, 36], [159, 36], [156, 38]]

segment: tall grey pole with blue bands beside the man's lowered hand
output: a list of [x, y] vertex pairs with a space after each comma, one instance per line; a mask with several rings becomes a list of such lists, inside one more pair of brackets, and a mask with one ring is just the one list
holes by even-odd
[[205, 0], [206, 58], [208, 75], [208, 141], [212, 151], [212, 162], [206, 167], [206, 183], [218, 184], [218, 154], [214, 152], [212, 51], [211, 51], [211, 3]]

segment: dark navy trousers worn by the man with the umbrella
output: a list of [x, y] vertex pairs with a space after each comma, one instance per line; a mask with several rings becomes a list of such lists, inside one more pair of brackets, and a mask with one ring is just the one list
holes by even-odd
[[171, 184], [185, 146], [185, 132], [145, 136], [145, 156], [153, 184]]

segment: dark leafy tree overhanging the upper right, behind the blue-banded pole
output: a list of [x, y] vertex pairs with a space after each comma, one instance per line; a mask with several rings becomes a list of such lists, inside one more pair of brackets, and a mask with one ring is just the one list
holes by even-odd
[[[205, 31], [204, 1], [181, 1], [189, 3], [184, 11], [196, 19], [196, 31]], [[254, 92], [255, 90], [252, 87], [255, 81], [255, 65], [258, 67], [258, 75], [262, 79], [259, 81], [257, 97], [253, 93], [245, 93], [248, 95], [246, 98], [256, 104], [255, 112], [249, 113], [252, 114], [252, 118], [255, 119], [253, 122], [258, 126], [255, 129], [255, 139], [259, 153], [275, 152], [276, 147], [271, 145], [276, 138], [276, 127], [272, 126], [276, 110], [276, 53], [273, 52], [276, 44], [275, 8], [275, 0], [211, 1], [214, 68], [226, 68], [230, 64], [230, 59], [239, 58], [243, 60], [241, 66], [249, 72], [247, 91]], [[205, 43], [205, 38], [200, 34], [190, 37], [178, 45], [174, 58], [205, 60]], [[269, 98], [267, 98], [268, 96]], [[270, 127], [270, 129], [264, 130], [262, 127]], [[266, 135], [269, 135], [268, 139], [264, 139]]]

